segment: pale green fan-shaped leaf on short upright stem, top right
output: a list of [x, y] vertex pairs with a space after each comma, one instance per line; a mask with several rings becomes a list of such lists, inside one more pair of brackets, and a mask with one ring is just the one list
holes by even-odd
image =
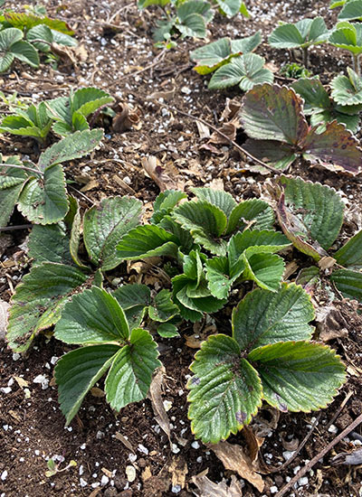
[[273, 48], [300, 48], [303, 52], [303, 65], [309, 66], [308, 49], [312, 45], [327, 42], [329, 30], [322, 17], [302, 19], [298, 23], [281, 23], [268, 38]]

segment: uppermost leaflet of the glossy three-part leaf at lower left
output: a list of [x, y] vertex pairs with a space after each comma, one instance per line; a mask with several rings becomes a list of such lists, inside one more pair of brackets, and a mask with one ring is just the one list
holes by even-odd
[[92, 286], [74, 295], [55, 326], [55, 337], [65, 343], [125, 343], [129, 324], [119, 303], [106, 290]]

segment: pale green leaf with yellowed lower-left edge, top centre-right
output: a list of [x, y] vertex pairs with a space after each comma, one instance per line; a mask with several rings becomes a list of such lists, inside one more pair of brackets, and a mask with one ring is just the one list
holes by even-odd
[[262, 33], [260, 31], [238, 40], [231, 40], [228, 37], [220, 38], [216, 42], [207, 43], [190, 52], [190, 59], [196, 62], [194, 68], [196, 72], [209, 74], [230, 62], [233, 57], [253, 52], [261, 42]]

